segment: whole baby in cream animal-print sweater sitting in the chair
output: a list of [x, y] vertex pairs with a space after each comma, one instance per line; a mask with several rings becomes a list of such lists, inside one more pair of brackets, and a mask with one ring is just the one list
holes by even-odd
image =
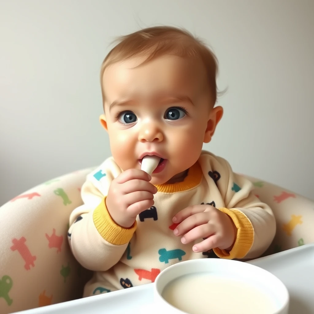
[[[223, 115], [213, 52], [186, 31], [124, 36], [101, 73], [112, 157], [87, 176], [70, 216], [74, 257], [95, 271], [83, 296], [154, 282], [196, 258], [259, 257], [276, 231], [252, 183], [203, 151]], [[152, 175], [146, 155], [160, 157]]]

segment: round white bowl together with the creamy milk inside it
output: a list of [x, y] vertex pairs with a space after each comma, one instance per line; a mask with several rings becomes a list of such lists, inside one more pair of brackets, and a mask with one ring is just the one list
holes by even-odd
[[287, 314], [289, 294], [273, 274], [223, 259], [181, 262], [155, 280], [156, 306], [166, 313]]

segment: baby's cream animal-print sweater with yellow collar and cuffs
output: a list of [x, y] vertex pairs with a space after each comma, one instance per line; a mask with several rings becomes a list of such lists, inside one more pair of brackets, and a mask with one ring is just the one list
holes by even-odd
[[87, 176], [81, 196], [84, 205], [70, 216], [69, 244], [85, 268], [96, 271], [108, 291], [154, 282], [166, 267], [195, 258], [198, 241], [182, 244], [173, 234], [173, 216], [189, 205], [209, 203], [228, 214], [237, 227], [232, 250], [214, 248], [220, 258], [260, 256], [271, 244], [276, 231], [272, 210], [252, 194], [250, 181], [231, 170], [223, 158], [203, 151], [184, 181], [157, 186], [154, 206], [138, 215], [129, 229], [111, 219], [106, 195], [111, 181], [122, 170], [108, 158]]

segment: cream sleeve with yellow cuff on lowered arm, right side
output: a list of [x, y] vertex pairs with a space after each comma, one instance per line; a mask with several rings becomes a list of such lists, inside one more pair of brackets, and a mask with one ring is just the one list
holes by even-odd
[[267, 250], [275, 236], [273, 212], [252, 193], [251, 181], [234, 173], [227, 161], [218, 160], [221, 181], [217, 186], [226, 206], [219, 209], [233, 220], [237, 236], [230, 252], [217, 248], [214, 252], [222, 258], [257, 258]]

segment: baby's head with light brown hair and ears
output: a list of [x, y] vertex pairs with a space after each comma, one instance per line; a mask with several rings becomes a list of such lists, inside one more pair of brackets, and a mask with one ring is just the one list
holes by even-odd
[[223, 113], [214, 107], [217, 72], [213, 52], [186, 31], [152, 27], [122, 37], [100, 74], [100, 122], [119, 167], [140, 169], [144, 155], [159, 155], [155, 185], [191, 167]]

